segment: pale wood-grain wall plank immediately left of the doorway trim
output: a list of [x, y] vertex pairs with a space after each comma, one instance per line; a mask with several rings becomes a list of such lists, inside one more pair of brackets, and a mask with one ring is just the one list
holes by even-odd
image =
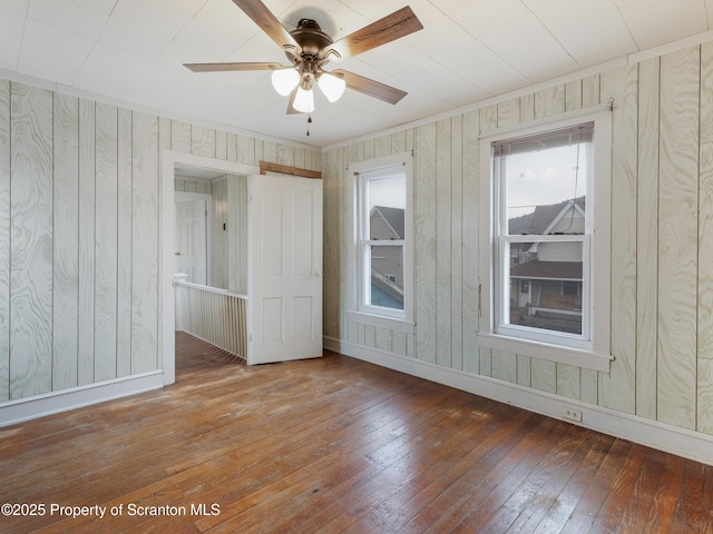
[[158, 119], [134, 112], [131, 228], [131, 373], [157, 368]]

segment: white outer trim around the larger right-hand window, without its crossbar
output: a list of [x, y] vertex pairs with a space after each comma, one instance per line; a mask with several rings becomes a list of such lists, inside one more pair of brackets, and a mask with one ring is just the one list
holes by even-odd
[[[494, 225], [495, 176], [491, 144], [508, 138], [524, 137], [567, 128], [582, 122], [595, 122], [594, 168], [596, 178], [590, 187], [594, 195], [594, 231], [590, 237], [592, 261], [592, 342], [576, 346], [547, 340], [517, 337], [517, 327], [495, 330], [496, 250]], [[484, 347], [496, 348], [546, 360], [569, 364], [595, 370], [609, 370], [611, 355], [611, 188], [612, 188], [612, 110], [611, 105], [578, 110], [518, 127], [495, 130], [480, 138], [480, 217], [479, 217], [479, 303], [478, 339]], [[589, 195], [589, 190], [587, 191]], [[541, 238], [543, 236], [537, 236]], [[533, 239], [533, 236], [529, 236]], [[500, 308], [502, 309], [502, 308]]]

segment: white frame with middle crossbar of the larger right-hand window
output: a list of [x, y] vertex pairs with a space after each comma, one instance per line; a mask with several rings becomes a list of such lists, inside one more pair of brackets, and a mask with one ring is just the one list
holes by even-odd
[[[587, 180], [587, 215], [584, 235], [504, 236], [507, 214], [498, 204], [504, 180], [497, 176], [492, 144], [594, 122], [590, 167]], [[566, 363], [596, 370], [609, 369], [611, 356], [611, 181], [612, 111], [611, 106], [584, 108], [564, 116], [550, 117], [498, 129], [480, 137], [480, 231], [479, 231], [479, 305], [478, 338], [484, 347]], [[504, 218], [506, 219], [504, 222]], [[509, 245], [549, 240], [577, 241], [583, 246], [583, 334], [557, 333], [510, 325], [504, 317], [509, 306], [504, 301], [509, 291]], [[505, 264], [505, 265], [502, 265]], [[497, 274], [501, 276], [498, 278]], [[586, 309], [585, 309], [586, 308]]]

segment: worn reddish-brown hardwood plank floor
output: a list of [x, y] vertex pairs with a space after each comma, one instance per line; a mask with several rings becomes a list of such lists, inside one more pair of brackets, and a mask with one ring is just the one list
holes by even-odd
[[0, 503], [45, 511], [1, 532], [713, 532], [712, 466], [332, 353], [177, 347], [170, 387], [0, 428]]

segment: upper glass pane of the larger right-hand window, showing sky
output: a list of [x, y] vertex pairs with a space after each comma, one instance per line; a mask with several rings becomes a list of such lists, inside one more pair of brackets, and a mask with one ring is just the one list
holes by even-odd
[[589, 146], [501, 156], [507, 169], [508, 234], [584, 234]]

